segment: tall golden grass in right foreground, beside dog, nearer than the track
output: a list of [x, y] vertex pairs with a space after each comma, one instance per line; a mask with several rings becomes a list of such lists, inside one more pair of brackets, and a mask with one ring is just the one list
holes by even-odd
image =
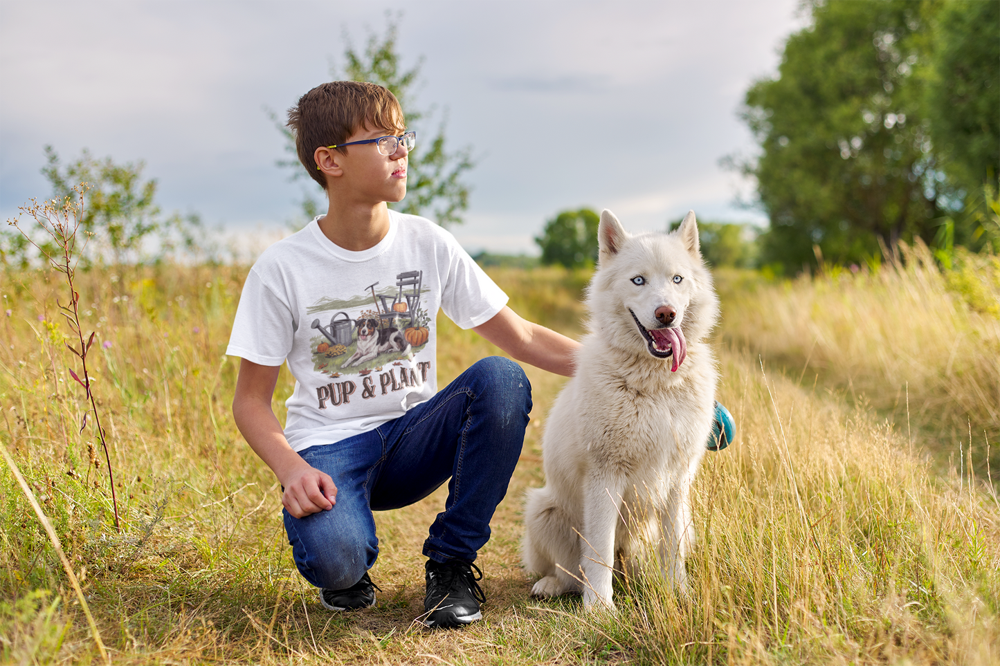
[[693, 598], [644, 577], [651, 660], [997, 663], [1000, 505], [972, 461], [935, 478], [864, 410], [749, 359], [724, 375], [742, 436], [696, 484]]

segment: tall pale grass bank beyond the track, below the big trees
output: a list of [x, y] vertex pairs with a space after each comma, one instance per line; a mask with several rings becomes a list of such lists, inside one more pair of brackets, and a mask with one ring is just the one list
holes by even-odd
[[1000, 260], [961, 253], [942, 271], [926, 246], [901, 250], [880, 267], [779, 284], [723, 274], [734, 297], [722, 338], [919, 427], [945, 459], [964, 442], [985, 461], [1000, 439]]

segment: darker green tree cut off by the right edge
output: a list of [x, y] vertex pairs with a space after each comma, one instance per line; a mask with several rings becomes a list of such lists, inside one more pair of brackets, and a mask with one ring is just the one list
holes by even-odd
[[948, 170], [979, 198], [1000, 175], [1000, 3], [949, 0], [940, 12], [928, 85], [934, 141]]

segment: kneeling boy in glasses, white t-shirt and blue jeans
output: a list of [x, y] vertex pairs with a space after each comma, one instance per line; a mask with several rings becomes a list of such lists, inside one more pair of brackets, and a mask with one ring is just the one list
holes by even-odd
[[[567, 376], [579, 344], [515, 314], [446, 231], [388, 209], [406, 195], [415, 144], [392, 93], [325, 83], [288, 125], [329, 209], [247, 276], [227, 349], [242, 358], [236, 424], [281, 482], [295, 564], [331, 610], [375, 603], [372, 511], [412, 504], [450, 478], [424, 542], [424, 622], [468, 624], [482, 617], [474, 560], [520, 454], [531, 387], [518, 365], [493, 357], [437, 391], [437, 311]], [[296, 382], [282, 430], [271, 398], [286, 360]]]

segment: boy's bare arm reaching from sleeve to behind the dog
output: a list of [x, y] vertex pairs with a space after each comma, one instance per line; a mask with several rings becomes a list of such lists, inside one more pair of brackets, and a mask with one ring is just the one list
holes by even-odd
[[472, 330], [518, 361], [567, 377], [576, 370], [579, 342], [522, 319], [506, 305], [488, 322]]

